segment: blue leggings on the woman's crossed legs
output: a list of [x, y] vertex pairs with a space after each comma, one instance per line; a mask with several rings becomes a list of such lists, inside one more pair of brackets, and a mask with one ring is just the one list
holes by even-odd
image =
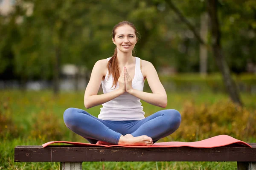
[[74, 133], [92, 144], [104, 141], [118, 144], [121, 135], [146, 135], [153, 142], [166, 137], [180, 126], [180, 113], [174, 109], [158, 111], [142, 120], [111, 121], [102, 120], [84, 110], [68, 108], [64, 112], [64, 122]]

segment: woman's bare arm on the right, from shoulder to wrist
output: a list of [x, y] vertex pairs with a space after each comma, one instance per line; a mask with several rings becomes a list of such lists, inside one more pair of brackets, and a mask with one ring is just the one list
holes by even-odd
[[144, 100], [147, 103], [150, 103], [151, 105], [165, 108], [167, 105], [167, 94], [162, 83], [159, 80], [157, 71], [154, 68], [154, 65], [151, 64], [151, 62], [145, 60], [142, 61], [143, 76], [147, 78], [148, 85], [153, 93], [147, 93], [133, 88], [129, 89], [127, 92], [139, 99]]

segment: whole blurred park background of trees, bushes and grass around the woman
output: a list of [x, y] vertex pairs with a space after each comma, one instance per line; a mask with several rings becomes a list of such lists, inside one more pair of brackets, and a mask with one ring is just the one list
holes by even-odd
[[[159, 142], [221, 134], [256, 142], [255, 0], [0, 0], [0, 169], [59, 168], [14, 163], [17, 145], [87, 142], [67, 129], [62, 115], [70, 107], [85, 109], [93, 65], [113, 55], [112, 28], [123, 20], [140, 33], [135, 56], [157, 69], [168, 94], [166, 109], [182, 114], [180, 128]], [[147, 82], [144, 91], [151, 92]], [[142, 104], [145, 116], [161, 110]], [[100, 107], [87, 111], [97, 116]], [[234, 162], [86, 166], [236, 169]]]

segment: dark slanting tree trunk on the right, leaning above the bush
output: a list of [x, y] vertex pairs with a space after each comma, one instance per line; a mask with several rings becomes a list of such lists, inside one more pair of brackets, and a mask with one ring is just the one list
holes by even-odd
[[239, 97], [238, 89], [236, 83], [230, 75], [230, 70], [228, 68], [227, 62], [224, 59], [223, 51], [221, 48], [221, 32], [219, 29], [218, 15], [217, 15], [217, 0], [208, 0], [207, 8], [209, 13], [209, 19], [211, 23], [211, 32], [212, 32], [212, 51], [215, 62], [221, 71], [225, 88], [230, 95], [230, 98], [233, 102], [242, 105], [242, 102]]

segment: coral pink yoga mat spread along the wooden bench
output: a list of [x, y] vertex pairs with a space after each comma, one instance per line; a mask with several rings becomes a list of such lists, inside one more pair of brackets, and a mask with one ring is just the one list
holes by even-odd
[[89, 144], [89, 143], [81, 143], [81, 142], [68, 142], [68, 141], [51, 141], [45, 144], [42, 144], [43, 147], [48, 146], [49, 144], [53, 143], [66, 143], [66, 144], [73, 144], [77, 146], [84, 146], [84, 147], [92, 147], [92, 146], [104, 146], [104, 147], [204, 147], [204, 148], [211, 148], [211, 147], [221, 147], [226, 146], [229, 144], [241, 144], [251, 147], [250, 144], [246, 142], [240, 141], [228, 135], [219, 135], [214, 136], [208, 139], [204, 139], [197, 142], [157, 142], [154, 143], [152, 146], [125, 146], [125, 145], [103, 145], [103, 144]]

